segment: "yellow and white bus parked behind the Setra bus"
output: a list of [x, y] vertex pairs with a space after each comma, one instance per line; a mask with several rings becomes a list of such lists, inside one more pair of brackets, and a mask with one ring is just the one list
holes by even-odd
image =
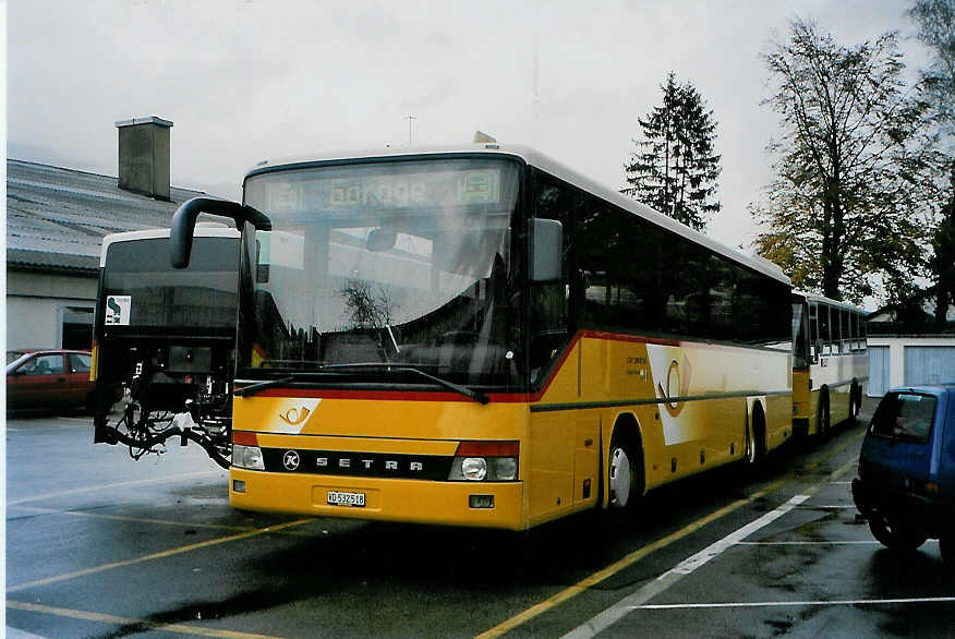
[[794, 291], [793, 333], [794, 427], [823, 434], [856, 419], [869, 379], [865, 309]]

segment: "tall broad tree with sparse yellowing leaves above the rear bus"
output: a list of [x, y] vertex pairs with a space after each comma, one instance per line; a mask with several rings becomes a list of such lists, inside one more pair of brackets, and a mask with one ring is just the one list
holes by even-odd
[[766, 202], [750, 208], [758, 253], [836, 300], [910, 281], [924, 269], [932, 138], [896, 35], [844, 47], [796, 20], [763, 61], [783, 133]]

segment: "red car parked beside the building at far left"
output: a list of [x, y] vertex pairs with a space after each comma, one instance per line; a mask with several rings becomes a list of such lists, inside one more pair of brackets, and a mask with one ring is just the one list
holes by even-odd
[[[11, 354], [20, 352], [13, 361]], [[7, 408], [55, 409], [95, 406], [88, 351], [7, 351]]]

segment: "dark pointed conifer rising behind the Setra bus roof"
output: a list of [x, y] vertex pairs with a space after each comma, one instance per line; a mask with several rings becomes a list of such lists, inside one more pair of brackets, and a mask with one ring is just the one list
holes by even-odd
[[679, 85], [673, 72], [663, 91], [663, 105], [638, 119], [642, 138], [624, 169], [628, 186], [620, 193], [702, 231], [720, 210], [714, 200], [720, 155], [714, 150], [713, 111], [689, 82]]

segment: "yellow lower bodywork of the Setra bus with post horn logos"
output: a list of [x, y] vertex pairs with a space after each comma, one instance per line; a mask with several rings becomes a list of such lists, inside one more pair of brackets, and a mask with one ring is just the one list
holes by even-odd
[[[460, 442], [519, 445], [511, 482], [428, 481], [232, 467], [238, 509], [523, 530], [606, 507], [606, 460], [615, 427], [637, 424], [644, 487], [744, 458], [748, 429], [765, 425], [764, 449], [791, 435], [788, 351], [675, 342], [579, 331], [542, 391], [492, 395], [480, 405], [448, 393], [291, 391], [237, 397], [234, 431], [258, 446], [349, 454], [455, 455]], [[237, 483], [241, 482], [241, 483]], [[237, 492], [237, 485], [242, 492]], [[361, 493], [363, 507], [327, 503], [329, 491]], [[471, 507], [473, 495], [493, 508]], [[599, 503], [601, 502], [601, 503]]]

